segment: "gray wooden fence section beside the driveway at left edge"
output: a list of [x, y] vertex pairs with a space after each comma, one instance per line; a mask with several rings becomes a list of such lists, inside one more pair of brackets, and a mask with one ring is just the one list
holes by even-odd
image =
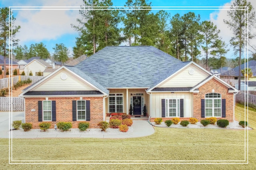
[[24, 111], [24, 99], [0, 97], [0, 111]]

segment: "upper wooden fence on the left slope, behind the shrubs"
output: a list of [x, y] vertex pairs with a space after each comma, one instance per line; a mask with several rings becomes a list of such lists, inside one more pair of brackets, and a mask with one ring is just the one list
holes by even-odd
[[[15, 76], [11, 78], [2, 78], [0, 79], [0, 89], [8, 88], [10, 84], [14, 86], [18, 81], [24, 81], [30, 78], [32, 80], [32, 84], [44, 78], [44, 76]], [[12, 81], [12, 82], [11, 82]]]

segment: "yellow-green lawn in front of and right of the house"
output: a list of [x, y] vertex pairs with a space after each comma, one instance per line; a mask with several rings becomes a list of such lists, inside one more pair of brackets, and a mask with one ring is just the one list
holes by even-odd
[[[235, 116], [244, 113], [236, 106]], [[255, 111], [249, 124], [256, 127]], [[242, 114], [241, 114], [242, 118]], [[148, 137], [129, 139], [13, 139], [13, 160], [243, 160], [244, 130], [161, 128]], [[249, 131], [249, 164], [8, 164], [8, 139], [0, 139], [3, 169], [256, 169], [256, 133]], [[13, 162], [14, 163], [14, 162]], [[22, 162], [21, 162], [22, 163]], [[28, 163], [28, 162], [26, 162]], [[33, 162], [32, 162], [33, 163]], [[40, 163], [40, 162], [36, 162]], [[49, 162], [48, 162], [49, 163]], [[56, 163], [56, 162], [52, 162]], [[77, 163], [77, 162], [72, 162]], [[82, 163], [82, 162], [79, 162]], [[90, 163], [90, 162], [89, 162]], [[101, 162], [102, 163], [102, 162]], [[115, 162], [116, 163], [116, 162]], [[125, 163], [125, 162], [120, 162]], [[126, 162], [138, 163], [138, 162]], [[143, 162], [140, 162], [143, 163]], [[162, 163], [154, 162], [154, 163]], [[180, 162], [172, 162], [180, 163]], [[181, 162], [188, 163], [188, 162]], [[196, 163], [196, 162], [192, 162]], [[198, 162], [200, 163], [200, 162]], [[208, 162], [210, 163], [210, 162]], [[225, 163], [225, 162], [220, 162]], [[230, 162], [228, 162], [230, 163]], [[238, 162], [234, 162], [238, 163]], [[239, 163], [245, 163], [240, 161]], [[1, 169], [1, 168], [0, 168]]]

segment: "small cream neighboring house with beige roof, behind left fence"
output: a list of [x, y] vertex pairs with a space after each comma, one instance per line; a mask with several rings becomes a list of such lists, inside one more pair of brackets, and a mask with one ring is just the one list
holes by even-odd
[[26, 75], [29, 75], [31, 71], [33, 76], [38, 76], [39, 74], [44, 76], [44, 70], [46, 68], [52, 68], [52, 66], [42, 59], [34, 59], [30, 61], [30, 63], [26, 64], [24, 72]]

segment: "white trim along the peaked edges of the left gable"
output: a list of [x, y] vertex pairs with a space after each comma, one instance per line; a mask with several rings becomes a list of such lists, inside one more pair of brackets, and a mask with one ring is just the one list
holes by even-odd
[[24, 92], [22, 92], [22, 94], [20, 94], [20, 96], [23, 96], [25, 93], [29, 92], [30, 90], [32, 90], [33, 88], [35, 88], [36, 86], [38, 86], [39, 84], [41, 84], [42, 82], [47, 81], [50, 77], [52, 77], [54, 74], [56, 74], [57, 72], [59, 72], [60, 70], [65, 69], [68, 72], [70, 72], [71, 74], [73, 74], [74, 76], [76, 76], [77, 78], [79, 78], [80, 80], [82, 80], [83, 82], [85, 82], [86, 84], [89, 84], [90, 86], [92, 86], [92, 88], [95, 88], [96, 90], [100, 91], [103, 95], [101, 96], [107, 96], [108, 94], [106, 94], [105, 92], [103, 92], [102, 90], [100, 90], [99, 88], [97, 88], [96, 86], [94, 86], [93, 84], [91, 84], [90, 82], [88, 82], [87, 80], [84, 80], [84, 78], [80, 77], [79, 75], [77, 75], [76, 73], [74, 73], [73, 71], [69, 70], [66, 66], [61, 66], [60, 68], [58, 68], [57, 70], [55, 70], [54, 72], [52, 72], [51, 74], [49, 74], [48, 76], [46, 76], [45, 78], [41, 79], [39, 82], [37, 82], [36, 84], [34, 84], [33, 86], [31, 86], [30, 88], [28, 88], [27, 90], [25, 90]]

